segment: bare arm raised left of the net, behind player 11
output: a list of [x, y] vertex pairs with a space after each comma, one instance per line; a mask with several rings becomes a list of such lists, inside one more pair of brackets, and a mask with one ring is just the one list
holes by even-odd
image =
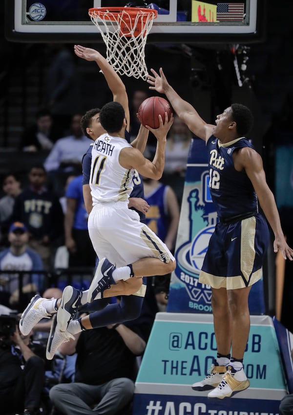
[[105, 80], [113, 94], [113, 101], [120, 102], [123, 106], [127, 125], [129, 125], [130, 115], [128, 108], [128, 96], [126, 88], [120, 76], [115, 72], [111, 65], [107, 62], [103, 55], [95, 49], [84, 47], [81, 45], [74, 45], [74, 52], [80, 58], [86, 61], [95, 61], [105, 76]]

